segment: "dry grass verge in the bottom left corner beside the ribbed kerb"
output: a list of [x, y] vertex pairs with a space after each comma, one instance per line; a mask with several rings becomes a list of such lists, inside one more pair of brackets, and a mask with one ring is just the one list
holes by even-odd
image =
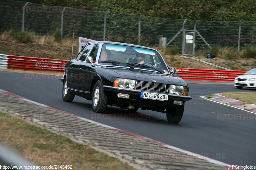
[[131, 166], [67, 137], [0, 112], [0, 141], [35, 166], [72, 165], [72, 169], [132, 169]]

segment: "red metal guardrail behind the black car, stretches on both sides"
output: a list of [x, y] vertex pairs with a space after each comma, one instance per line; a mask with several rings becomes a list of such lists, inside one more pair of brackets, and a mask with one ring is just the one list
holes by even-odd
[[[63, 73], [68, 60], [0, 54], [0, 69], [51, 71]], [[246, 71], [176, 68], [184, 80], [233, 82]]]

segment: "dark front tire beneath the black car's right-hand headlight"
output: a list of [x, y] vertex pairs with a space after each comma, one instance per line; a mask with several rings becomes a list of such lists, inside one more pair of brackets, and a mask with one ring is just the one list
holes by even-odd
[[184, 112], [184, 106], [170, 107], [167, 109], [166, 117], [170, 123], [179, 123]]

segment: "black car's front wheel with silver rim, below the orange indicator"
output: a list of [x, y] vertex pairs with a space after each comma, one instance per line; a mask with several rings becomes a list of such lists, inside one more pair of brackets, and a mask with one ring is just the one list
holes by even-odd
[[98, 80], [92, 90], [92, 110], [96, 113], [103, 113], [107, 107], [108, 98], [103, 91], [101, 81]]

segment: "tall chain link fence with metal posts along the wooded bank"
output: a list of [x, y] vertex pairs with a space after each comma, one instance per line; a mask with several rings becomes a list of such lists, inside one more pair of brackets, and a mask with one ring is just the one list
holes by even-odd
[[[0, 31], [28, 30], [39, 35], [118, 41], [158, 46], [160, 37], [166, 37], [168, 46], [184, 44], [184, 30], [194, 32], [195, 52], [213, 46], [228, 47], [238, 52], [256, 46], [256, 22], [253, 21], [201, 21], [156, 18], [115, 12], [86, 11], [76, 8], [46, 6], [28, 2], [0, 0]], [[168, 43], [169, 42], [169, 43]]]

